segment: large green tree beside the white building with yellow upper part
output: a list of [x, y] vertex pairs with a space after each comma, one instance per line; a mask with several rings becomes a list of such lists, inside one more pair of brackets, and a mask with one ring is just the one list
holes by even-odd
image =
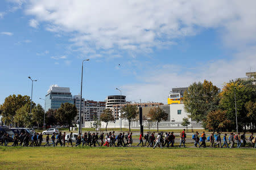
[[218, 87], [208, 80], [191, 84], [184, 92], [184, 109], [189, 113], [189, 117], [205, 123], [207, 113], [218, 109], [219, 91]]

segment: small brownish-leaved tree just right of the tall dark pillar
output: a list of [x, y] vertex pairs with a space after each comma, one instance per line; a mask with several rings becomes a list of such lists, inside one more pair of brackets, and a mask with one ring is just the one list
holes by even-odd
[[168, 119], [168, 113], [159, 107], [150, 109], [147, 116], [150, 117], [151, 121], [156, 122], [157, 128], [160, 121], [166, 121]]

